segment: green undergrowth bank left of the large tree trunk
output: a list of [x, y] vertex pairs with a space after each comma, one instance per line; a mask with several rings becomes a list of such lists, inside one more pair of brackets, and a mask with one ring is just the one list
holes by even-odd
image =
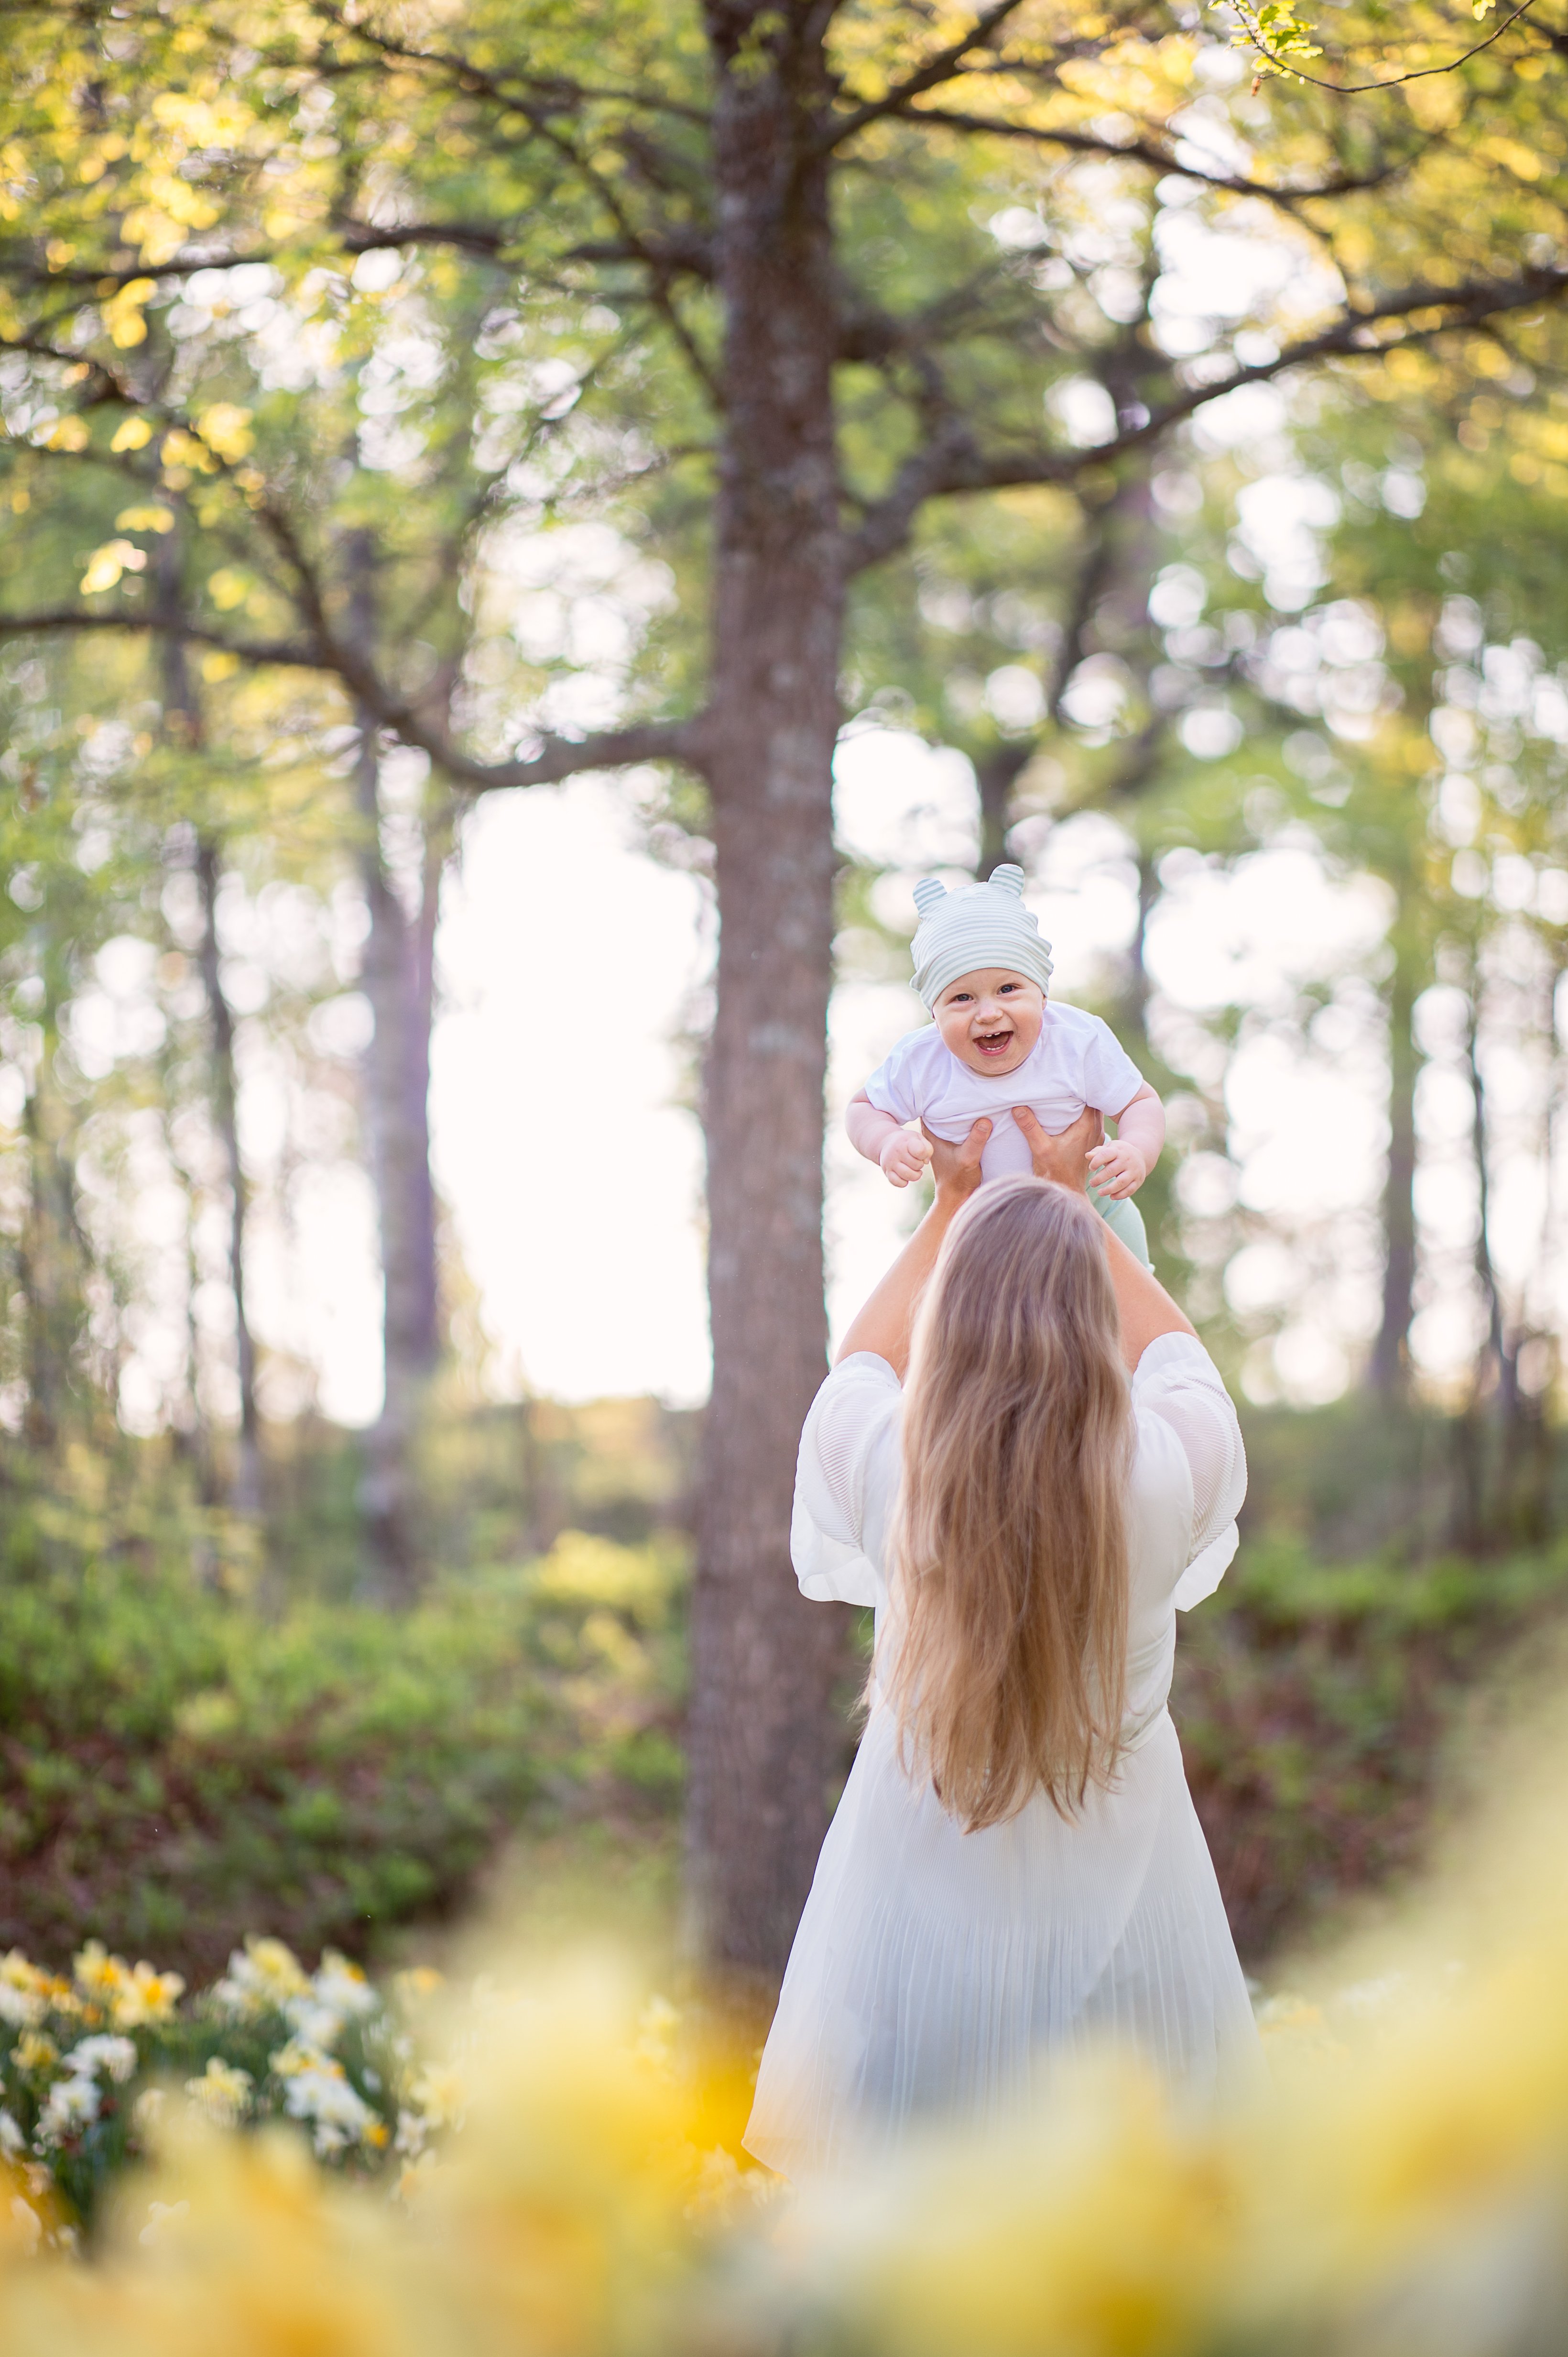
[[407, 1615], [268, 1619], [235, 1584], [195, 1579], [146, 1530], [108, 1539], [89, 1504], [12, 1523], [0, 1949], [59, 1963], [97, 1933], [210, 1978], [261, 1926], [367, 1954], [459, 1900], [527, 1815], [669, 1813], [669, 1541], [567, 1532]]

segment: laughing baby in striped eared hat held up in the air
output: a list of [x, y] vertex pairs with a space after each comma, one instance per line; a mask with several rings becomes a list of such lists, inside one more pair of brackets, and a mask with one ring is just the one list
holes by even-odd
[[892, 1186], [909, 1186], [930, 1162], [930, 1146], [906, 1122], [925, 1122], [958, 1146], [984, 1115], [991, 1122], [979, 1160], [984, 1181], [1034, 1167], [1015, 1105], [1026, 1105], [1052, 1136], [1095, 1105], [1116, 1122], [1116, 1141], [1090, 1155], [1090, 1202], [1149, 1266], [1130, 1197], [1165, 1143], [1165, 1108], [1099, 1016], [1048, 1004], [1050, 943], [1041, 940], [1022, 891], [1022, 867], [998, 867], [989, 884], [954, 893], [935, 877], [916, 884], [913, 985], [935, 1025], [899, 1039], [850, 1098], [845, 1129]]

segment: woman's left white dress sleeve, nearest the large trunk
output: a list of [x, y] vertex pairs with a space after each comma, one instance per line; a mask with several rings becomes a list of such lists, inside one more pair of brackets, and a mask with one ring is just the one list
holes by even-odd
[[883, 1600], [883, 1530], [897, 1483], [904, 1393], [885, 1358], [841, 1360], [812, 1400], [796, 1461], [789, 1553], [815, 1603]]

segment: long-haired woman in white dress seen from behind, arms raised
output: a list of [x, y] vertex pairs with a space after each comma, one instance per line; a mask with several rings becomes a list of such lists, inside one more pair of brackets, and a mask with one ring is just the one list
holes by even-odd
[[1198, 2098], [1257, 2067], [1165, 1711], [1177, 1605], [1236, 1546], [1236, 1409], [1083, 1197], [1097, 1115], [1017, 1120], [1034, 1178], [979, 1188], [989, 1122], [932, 1141], [800, 1435], [796, 1574], [876, 1605], [876, 1659], [746, 2128], [786, 2176], [1104, 2039]]

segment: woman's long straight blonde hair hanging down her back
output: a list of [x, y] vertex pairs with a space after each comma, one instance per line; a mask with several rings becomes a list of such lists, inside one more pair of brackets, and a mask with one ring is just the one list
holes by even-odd
[[895, 1615], [876, 1676], [965, 1831], [1116, 1768], [1132, 1412], [1099, 1221], [1043, 1178], [982, 1188], [916, 1322]]

